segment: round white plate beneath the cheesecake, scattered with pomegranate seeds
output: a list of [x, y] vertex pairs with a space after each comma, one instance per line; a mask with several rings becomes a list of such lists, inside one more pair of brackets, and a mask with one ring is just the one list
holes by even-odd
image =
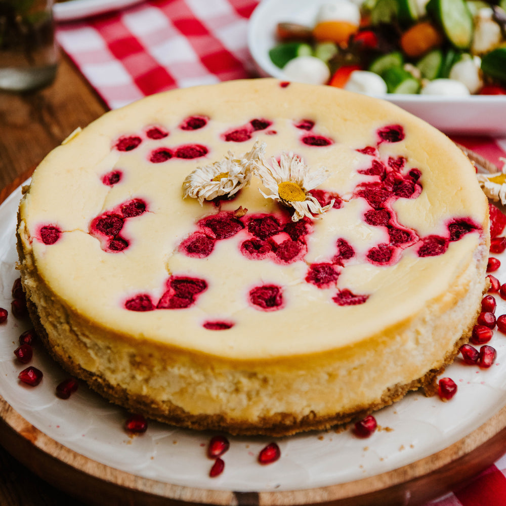
[[[0, 205], [0, 307], [10, 308], [11, 289], [18, 277], [15, 247], [18, 188]], [[506, 279], [506, 254], [497, 273]], [[506, 313], [497, 297], [496, 314]], [[142, 478], [209, 490], [282, 491], [312, 489], [376, 476], [432, 455], [465, 438], [506, 405], [506, 336], [492, 338], [497, 361], [490, 369], [466, 366], [456, 359], [445, 375], [458, 392], [449, 402], [420, 393], [406, 396], [375, 414], [383, 428], [367, 440], [351, 431], [309, 433], [279, 438], [281, 458], [260, 466], [265, 437], [230, 437], [223, 456], [225, 472], [209, 478], [211, 462], [205, 456], [210, 433], [150, 423], [148, 431], [129, 438], [122, 430], [127, 413], [90, 391], [84, 384], [69, 399], [55, 396], [55, 387], [67, 374], [39, 344], [34, 365], [44, 372], [37, 387], [18, 382], [26, 367], [15, 360], [18, 337], [28, 322], [9, 316], [0, 325], [0, 395], [31, 425], [67, 448], [106, 466]], [[386, 430], [386, 429], [389, 430]]]

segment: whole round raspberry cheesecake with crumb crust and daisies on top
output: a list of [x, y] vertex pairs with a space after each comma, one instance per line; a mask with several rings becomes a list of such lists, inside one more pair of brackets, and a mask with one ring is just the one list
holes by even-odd
[[473, 165], [396, 106], [275, 79], [108, 112], [37, 167], [19, 267], [52, 355], [180, 427], [326, 429], [432, 385], [486, 283]]

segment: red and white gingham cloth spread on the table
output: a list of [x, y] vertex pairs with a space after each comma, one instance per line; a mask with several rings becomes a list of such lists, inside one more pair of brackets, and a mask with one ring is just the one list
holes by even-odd
[[[57, 38], [114, 109], [160, 91], [254, 76], [247, 22], [258, 2], [147, 0], [122, 11], [60, 23]], [[506, 157], [506, 139], [454, 140], [500, 166], [500, 158]], [[506, 455], [426, 506], [506, 506], [505, 475]]]

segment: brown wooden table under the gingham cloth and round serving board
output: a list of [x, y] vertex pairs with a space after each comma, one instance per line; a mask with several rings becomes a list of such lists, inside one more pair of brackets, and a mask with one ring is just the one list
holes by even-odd
[[[55, 82], [27, 94], [0, 92], [0, 202], [77, 126], [107, 110], [72, 63], [62, 56]], [[6, 430], [0, 426], [0, 431]], [[0, 446], [2, 506], [80, 506], [28, 471]]]

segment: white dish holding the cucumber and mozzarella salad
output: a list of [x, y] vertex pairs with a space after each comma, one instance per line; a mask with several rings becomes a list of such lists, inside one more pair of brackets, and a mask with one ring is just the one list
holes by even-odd
[[[313, 25], [327, 0], [262, 0], [249, 20], [248, 47], [261, 76], [283, 79], [283, 71], [269, 58], [278, 22]], [[383, 95], [447, 134], [506, 136], [506, 95], [448, 98], [421, 95]]]

